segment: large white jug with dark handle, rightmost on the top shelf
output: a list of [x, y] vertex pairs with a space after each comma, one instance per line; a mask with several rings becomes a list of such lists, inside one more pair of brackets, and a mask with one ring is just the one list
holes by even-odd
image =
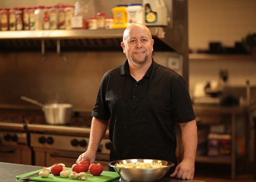
[[167, 25], [167, 8], [164, 0], [143, 0], [147, 26]]

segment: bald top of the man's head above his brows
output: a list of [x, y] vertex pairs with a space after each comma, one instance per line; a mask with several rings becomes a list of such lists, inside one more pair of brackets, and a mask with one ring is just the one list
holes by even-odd
[[150, 30], [144, 25], [140, 23], [131, 24], [127, 27], [123, 32], [123, 42], [130, 36], [131, 32], [141, 32], [145, 34], [148, 38], [152, 39], [152, 35]]

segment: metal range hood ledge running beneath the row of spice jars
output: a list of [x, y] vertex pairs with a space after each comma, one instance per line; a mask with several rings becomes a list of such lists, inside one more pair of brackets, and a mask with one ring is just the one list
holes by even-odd
[[[155, 40], [155, 50], [174, 51], [165, 37], [163, 27], [149, 27]], [[0, 32], [0, 49], [2, 51], [40, 50], [41, 41], [45, 48], [56, 50], [60, 41], [61, 50], [120, 50], [124, 29], [111, 30], [42, 30], [42, 31], [3, 31]]]

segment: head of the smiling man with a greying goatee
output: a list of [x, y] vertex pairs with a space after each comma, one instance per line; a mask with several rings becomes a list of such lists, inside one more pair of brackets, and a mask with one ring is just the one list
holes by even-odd
[[134, 23], [123, 32], [121, 46], [129, 63], [142, 66], [152, 60], [154, 40], [150, 30], [139, 23]]

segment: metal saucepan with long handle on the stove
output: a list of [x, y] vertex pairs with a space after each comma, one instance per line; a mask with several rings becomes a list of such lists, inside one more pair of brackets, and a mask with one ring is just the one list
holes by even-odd
[[69, 103], [52, 103], [50, 105], [43, 105], [37, 100], [25, 96], [21, 96], [20, 98], [42, 107], [42, 111], [44, 111], [46, 122], [48, 124], [69, 124], [71, 121], [73, 106]]

